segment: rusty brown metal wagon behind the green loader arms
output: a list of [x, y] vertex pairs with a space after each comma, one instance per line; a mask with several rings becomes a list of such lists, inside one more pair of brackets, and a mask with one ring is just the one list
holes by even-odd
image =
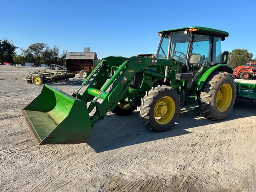
[[66, 68], [70, 72], [79, 73], [81, 70], [91, 72], [98, 64], [98, 57], [94, 52], [69, 52], [65, 61]]

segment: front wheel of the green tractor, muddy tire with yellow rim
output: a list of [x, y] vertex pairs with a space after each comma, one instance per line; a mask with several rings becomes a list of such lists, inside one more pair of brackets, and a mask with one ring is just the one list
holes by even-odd
[[156, 132], [169, 130], [178, 121], [180, 100], [176, 90], [158, 86], [141, 99], [140, 120], [146, 128]]

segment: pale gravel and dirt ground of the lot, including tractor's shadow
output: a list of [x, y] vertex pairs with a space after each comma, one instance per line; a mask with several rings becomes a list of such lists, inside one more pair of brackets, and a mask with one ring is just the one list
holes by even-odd
[[[256, 191], [256, 103], [236, 100], [222, 121], [182, 108], [163, 133], [148, 131], [138, 111], [109, 112], [88, 143], [39, 146], [21, 114], [42, 89], [22, 78], [39, 69], [0, 66], [0, 191]], [[52, 84], [72, 94], [81, 82]]]

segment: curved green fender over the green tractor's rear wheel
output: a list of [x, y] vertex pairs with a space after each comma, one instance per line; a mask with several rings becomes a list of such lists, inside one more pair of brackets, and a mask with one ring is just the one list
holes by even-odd
[[210, 67], [208, 70], [206, 70], [206, 72], [204, 72], [204, 74], [198, 80], [196, 90], [200, 90], [202, 88], [202, 86], [204, 85], [204, 82], [206, 81], [206, 79], [214, 71], [224, 71], [224, 72], [228, 72], [230, 74], [233, 73], [232, 67], [227, 65], [227, 64], [217, 64], [217, 65], [215, 65], [213, 67]]

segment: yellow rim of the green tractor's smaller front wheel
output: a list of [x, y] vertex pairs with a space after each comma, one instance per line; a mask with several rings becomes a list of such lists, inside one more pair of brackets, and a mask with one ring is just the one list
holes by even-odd
[[169, 96], [164, 96], [156, 103], [154, 108], [154, 118], [158, 124], [165, 125], [169, 123], [175, 113], [175, 102]]

